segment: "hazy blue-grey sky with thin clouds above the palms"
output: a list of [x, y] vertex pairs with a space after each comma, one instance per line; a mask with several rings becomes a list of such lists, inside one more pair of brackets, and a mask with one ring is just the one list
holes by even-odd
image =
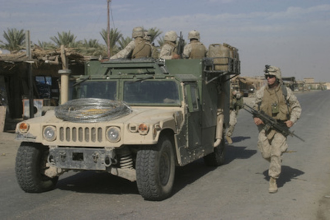
[[[33, 43], [57, 32], [97, 39], [107, 29], [107, 0], [0, 0], [0, 40], [8, 28], [30, 31]], [[136, 26], [183, 34], [239, 49], [241, 76], [263, 75], [265, 65], [283, 77], [330, 82], [329, 0], [111, 0], [110, 27], [124, 37]], [[155, 42], [156, 43], [156, 42]]]

